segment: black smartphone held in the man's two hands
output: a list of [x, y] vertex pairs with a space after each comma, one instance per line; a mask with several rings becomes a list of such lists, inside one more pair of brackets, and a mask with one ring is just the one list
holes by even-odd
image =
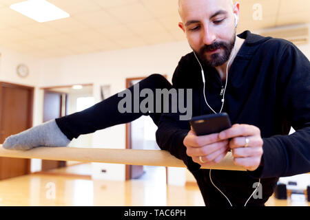
[[231, 122], [227, 113], [196, 116], [189, 123], [198, 136], [220, 133], [231, 128]]

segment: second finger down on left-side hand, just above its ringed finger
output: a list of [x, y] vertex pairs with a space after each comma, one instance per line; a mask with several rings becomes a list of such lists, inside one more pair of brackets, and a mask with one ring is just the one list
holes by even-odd
[[220, 148], [228, 148], [228, 140], [223, 140], [221, 142], [216, 142], [214, 144], [209, 144], [202, 147], [189, 147], [187, 148], [187, 155], [189, 156], [205, 156], [215, 151], [218, 151]]

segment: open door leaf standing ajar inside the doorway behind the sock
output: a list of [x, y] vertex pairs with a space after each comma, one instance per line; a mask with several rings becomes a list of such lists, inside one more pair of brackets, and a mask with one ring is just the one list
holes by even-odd
[[[48, 122], [62, 116], [63, 108], [66, 107], [66, 104], [64, 104], [67, 100], [66, 97], [66, 94], [56, 91], [44, 91], [43, 122]], [[65, 164], [63, 161], [43, 159], [42, 171], [65, 167]]]

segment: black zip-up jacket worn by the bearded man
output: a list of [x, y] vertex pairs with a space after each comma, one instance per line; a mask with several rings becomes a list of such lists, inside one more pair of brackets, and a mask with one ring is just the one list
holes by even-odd
[[[262, 166], [257, 170], [212, 170], [214, 184], [233, 206], [243, 206], [261, 179], [262, 205], [272, 195], [279, 177], [310, 171], [310, 64], [298, 48], [282, 39], [262, 37], [246, 31], [245, 39], [228, 74], [223, 112], [232, 124], [251, 124], [260, 129]], [[204, 66], [207, 101], [214, 111], [222, 106], [223, 83], [215, 68]], [[200, 65], [189, 53], [181, 58], [172, 79], [175, 88], [193, 89], [193, 116], [211, 114], [203, 97]], [[225, 86], [225, 85], [224, 85]], [[291, 126], [296, 130], [288, 135]], [[183, 159], [197, 180], [207, 206], [227, 205], [225, 197], [211, 185], [209, 170], [200, 169], [186, 154], [183, 140], [190, 130], [178, 113], [165, 113], [156, 131], [156, 141], [172, 155]]]

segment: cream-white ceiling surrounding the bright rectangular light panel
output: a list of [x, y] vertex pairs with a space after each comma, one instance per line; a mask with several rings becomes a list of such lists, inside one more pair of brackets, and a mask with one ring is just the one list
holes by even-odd
[[[32, 56], [69, 56], [183, 41], [178, 0], [48, 0], [70, 18], [38, 23], [0, 0], [0, 47]], [[215, 0], [214, 0], [215, 1]], [[240, 0], [238, 32], [310, 23], [310, 0]], [[262, 5], [255, 21], [253, 5]]]

